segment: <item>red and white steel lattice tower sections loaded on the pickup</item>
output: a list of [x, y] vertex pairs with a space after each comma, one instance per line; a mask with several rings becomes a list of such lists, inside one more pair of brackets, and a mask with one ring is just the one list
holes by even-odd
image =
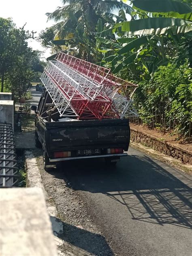
[[137, 115], [131, 100], [137, 85], [71, 55], [58, 53], [48, 62], [41, 81], [60, 117], [103, 119]]

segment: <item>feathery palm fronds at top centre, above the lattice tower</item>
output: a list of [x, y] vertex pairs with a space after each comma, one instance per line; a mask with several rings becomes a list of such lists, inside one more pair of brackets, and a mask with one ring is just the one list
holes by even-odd
[[[47, 13], [48, 19], [58, 23], [52, 28], [42, 32], [40, 37], [43, 45], [51, 46], [50, 41], [60, 46], [60, 49], [73, 52], [77, 57], [99, 61], [102, 54], [97, 51], [95, 34], [102, 29], [107, 29], [107, 23], [102, 22], [103, 16], [114, 23], [114, 11], [130, 13], [132, 8], [123, 1], [118, 0], [63, 0], [64, 6], [59, 7], [53, 13]], [[100, 12], [100, 13], [98, 13]], [[125, 13], [124, 13], [125, 17]], [[121, 21], [124, 21], [121, 18]], [[104, 24], [105, 23], [105, 24]], [[55, 49], [53, 49], [55, 50]]]

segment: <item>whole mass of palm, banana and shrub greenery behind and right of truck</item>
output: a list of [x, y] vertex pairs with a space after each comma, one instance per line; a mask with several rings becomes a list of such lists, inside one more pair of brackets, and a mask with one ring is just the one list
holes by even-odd
[[97, 62], [115, 75], [139, 83], [134, 100], [141, 122], [190, 137], [190, 0], [62, 3], [64, 6], [47, 14], [58, 23], [42, 32], [42, 44]]

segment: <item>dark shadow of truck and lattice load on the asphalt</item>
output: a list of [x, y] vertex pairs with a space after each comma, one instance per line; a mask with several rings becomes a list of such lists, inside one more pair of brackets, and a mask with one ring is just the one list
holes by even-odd
[[66, 162], [51, 174], [60, 179], [65, 174], [75, 190], [109, 196], [124, 205], [133, 220], [192, 228], [192, 189], [186, 185], [190, 179], [156, 162], [144, 154], [128, 156], [117, 169], [98, 160]]

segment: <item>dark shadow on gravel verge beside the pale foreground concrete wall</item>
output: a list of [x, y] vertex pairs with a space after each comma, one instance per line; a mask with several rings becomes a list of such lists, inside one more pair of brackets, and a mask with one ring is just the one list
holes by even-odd
[[[113, 252], [102, 235], [67, 224], [52, 216], [50, 218], [53, 234], [64, 241], [59, 245], [60, 250], [64, 249], [64, 254], [67, 251], [67, 255], [74, 256], [87, 255], [86, 252], [98, 256], [113, 256]], [[77, 247], [85, 252], [80, 252]]]

